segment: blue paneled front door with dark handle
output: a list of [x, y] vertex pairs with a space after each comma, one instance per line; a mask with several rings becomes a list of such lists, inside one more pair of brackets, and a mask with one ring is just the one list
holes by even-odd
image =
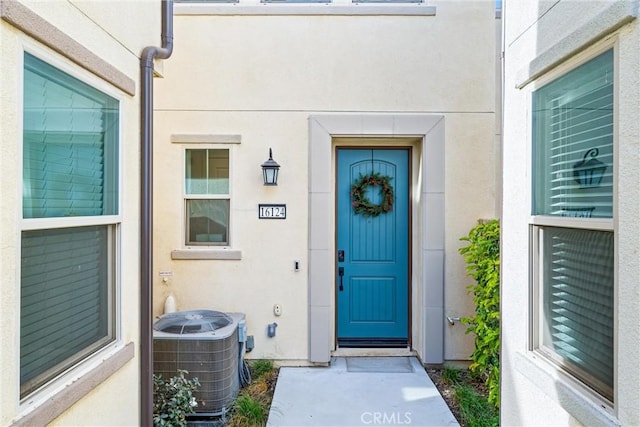
[[[409, 149], [338, 148], [337, 338], [341, 347], [406, 346], [409, 336]], [[379, 215], [356, 212], [353, 185], [378, 174], [393, 189]], [[379, 182], [379, 180], [378, 180]], [[358, 187], [374, 210], [389, 195]], [[362, 199], [360, 199], [362, 200]]]

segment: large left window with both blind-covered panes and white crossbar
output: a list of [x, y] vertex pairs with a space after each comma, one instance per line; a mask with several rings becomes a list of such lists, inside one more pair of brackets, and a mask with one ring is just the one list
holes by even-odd
[[115, 339], [119, 221], [118, 101], [25, 53], [23, 109], [21, 397]]

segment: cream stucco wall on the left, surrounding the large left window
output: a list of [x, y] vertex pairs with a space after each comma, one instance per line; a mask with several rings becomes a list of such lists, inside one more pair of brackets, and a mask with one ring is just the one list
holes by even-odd
[[[2, 2], [0, 183], [2, 298], [0, 425], [139, 423], [139, 55], [160, 43], [160, 2]], [[131, 31], [135, 27], [136, 31]], [[23, 402], [19, 398], [20, 221], [22, 218], [22, 58], [30, 52], [119, 99], [122, 151], [119, 338], [100, 360], [83, 364]], [[73, 61], [71, 60], [73, 59]], [[81, 63], [81, 65], [78, 64]], [[92, 71], [88, 71], [91, 69]], [[113, 77], [109, 81], [95, 73]], [[115, 363], [114, 363], [115, 361]], [[102, 378], [104, 372], [113, 375]], [[97, 382], [96, 382], [97, 381]], [[74, 386], [71, 386], [71, 385]], [[80, 388], [78, 384], [82, 384]], [[80, 395], [74, 390], [83, 390]], [[83, 397], [83, 394], [87, 393]], [[64, 397], [62, 397], [64, 396]], [[79, 398], [67, 410], [65, 401]], [[46, 408], [42, 410], [42, 408]], [[28, 418], [23, 418], [27, 416]], [[54, 420], [55, 418], [55, 420]]]

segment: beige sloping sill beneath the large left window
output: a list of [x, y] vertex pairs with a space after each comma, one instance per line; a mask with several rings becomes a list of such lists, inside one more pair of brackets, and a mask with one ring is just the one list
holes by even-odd
[[[17, 420], [12, 426], [27, 427], [49, 424], [132, 360], [135, 352], [134, 347], [134, 344], [130, 342], [117, 350], [76, 381], [72, 381], [59, 393], [55, 393], [44, 400], [42, 404]], [[27, 405], [29, 405], [29, 402], [24, 406]]]

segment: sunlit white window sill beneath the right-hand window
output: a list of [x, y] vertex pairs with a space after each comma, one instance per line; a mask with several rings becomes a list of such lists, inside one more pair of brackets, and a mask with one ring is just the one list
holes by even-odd
[[537, 353], [518, 353], [515, 367], [567, 413], [585, 425], [619, 425], [604, 399], [559, 371]]

